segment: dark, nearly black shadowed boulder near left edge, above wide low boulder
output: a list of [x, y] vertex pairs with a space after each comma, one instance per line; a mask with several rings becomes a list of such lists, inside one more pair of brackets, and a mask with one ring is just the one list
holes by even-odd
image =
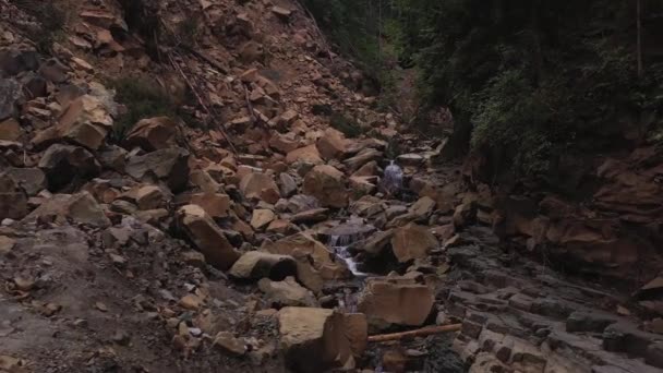
[[74, 180], [84, 181], [99, 175], [101, 166], [85, 148], [53, 144], [41, 156], [39, 168], [48, 178], [50, 191], [59, 191]]

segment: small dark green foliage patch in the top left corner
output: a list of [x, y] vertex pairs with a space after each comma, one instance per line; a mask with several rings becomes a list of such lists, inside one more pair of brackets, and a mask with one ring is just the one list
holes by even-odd
[[35, 43], [40, 52], [49, 53], [52, 44], [62, 37], [67, 13], [53, 1], [15, 0], [14, 3], [39, 23], [38, 29], [27, 29], [27, 37]]

